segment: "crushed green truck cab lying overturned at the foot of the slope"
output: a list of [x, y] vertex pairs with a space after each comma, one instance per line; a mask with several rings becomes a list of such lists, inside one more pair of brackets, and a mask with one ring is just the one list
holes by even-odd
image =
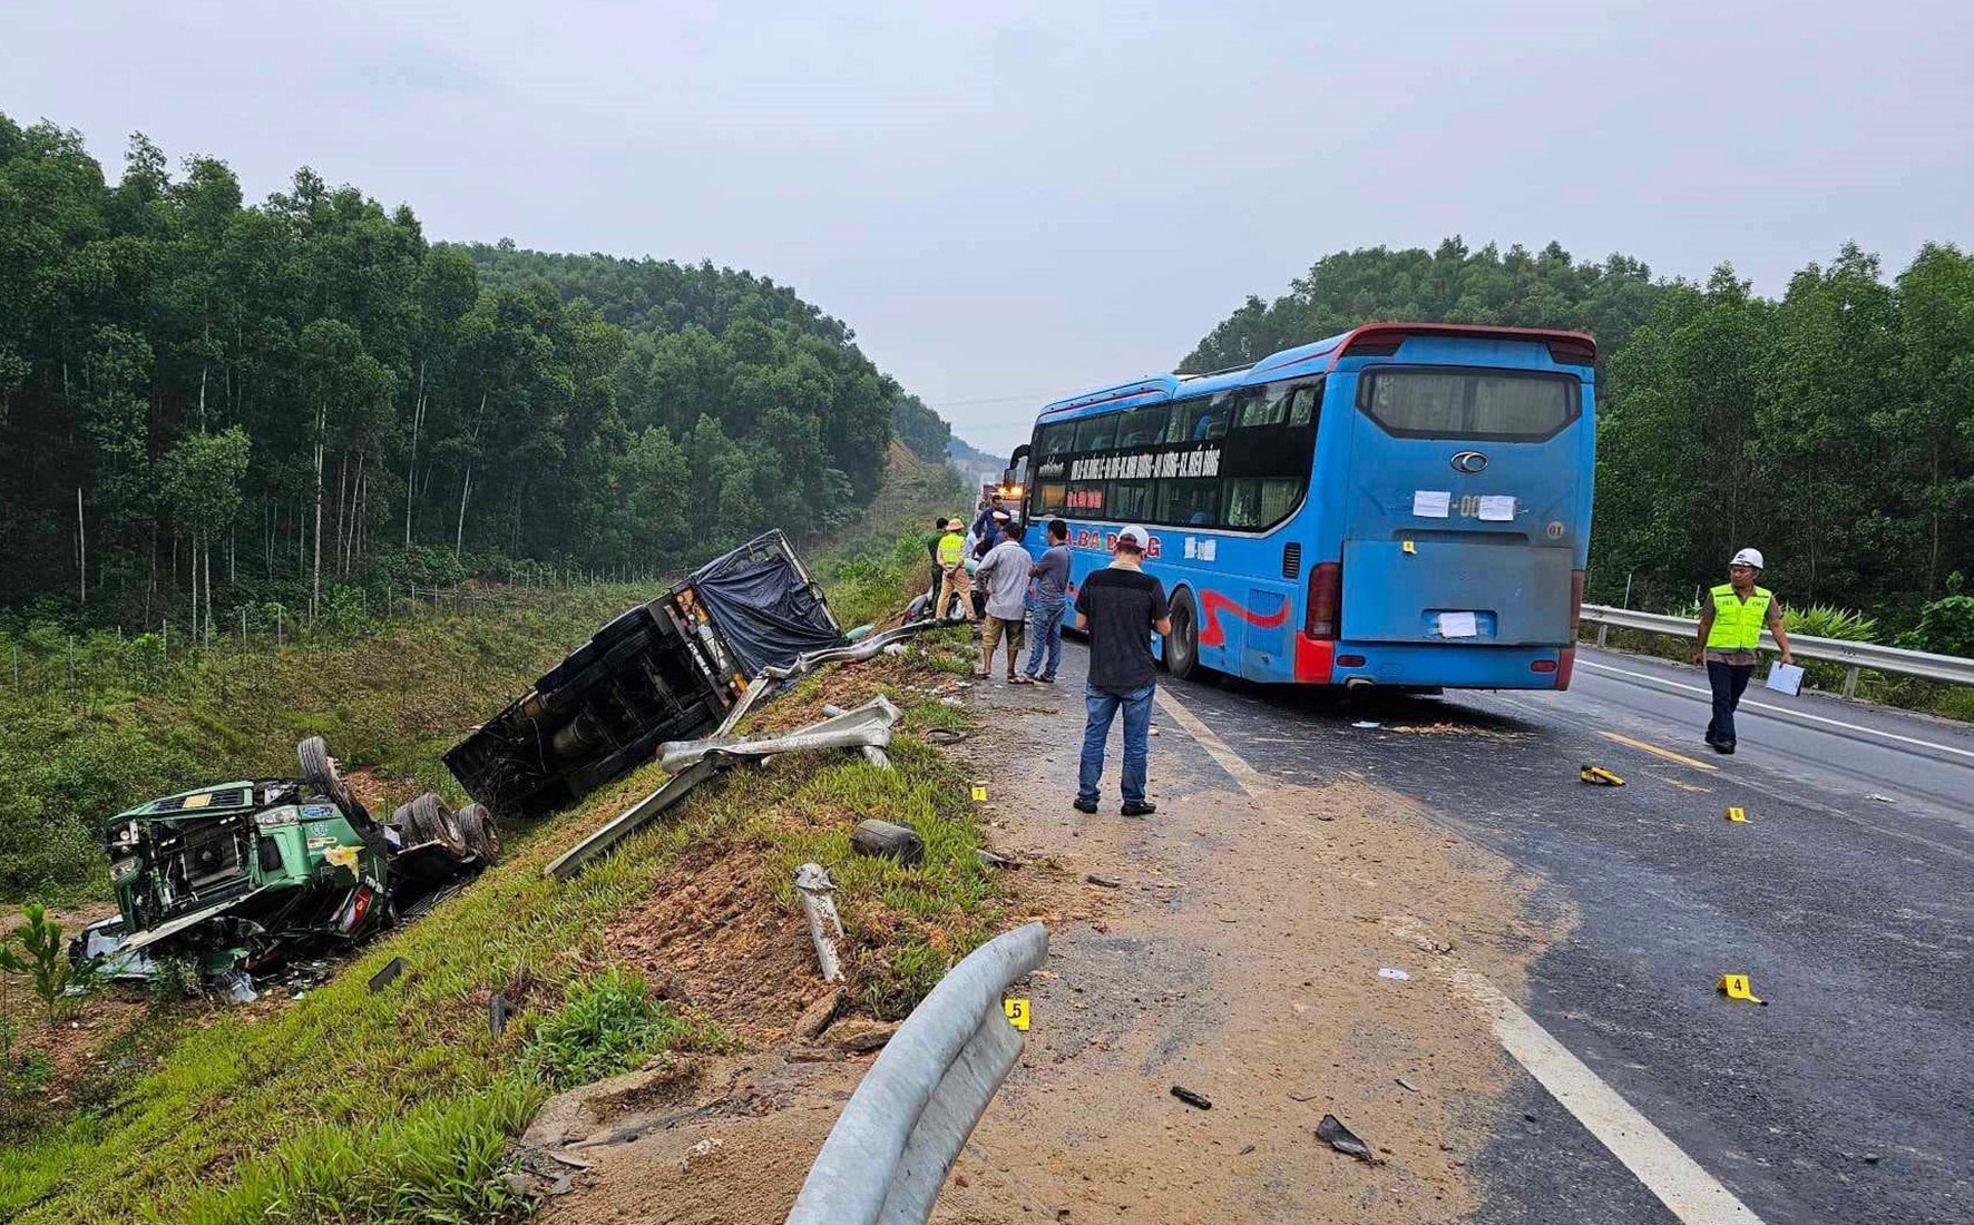
[[85, 927], [71, 957], [144, 974], [184, 957], [199, 974], [265, 974], [409, 917], [499, 844], [478, 805], [436, 795], [375, 821], [320, 738], [300, 779], [245, 779], [138, 805], [105, 829], [118, 915]]

